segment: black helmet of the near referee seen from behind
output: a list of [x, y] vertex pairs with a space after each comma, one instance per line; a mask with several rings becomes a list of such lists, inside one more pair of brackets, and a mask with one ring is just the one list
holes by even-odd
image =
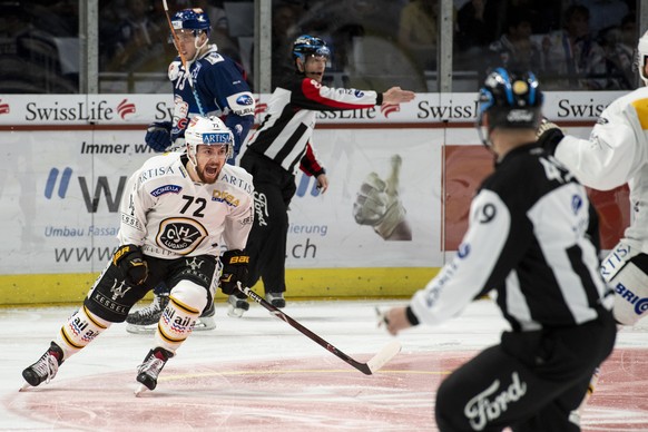
[[489, 131], [494, 128], [536, 129], [542, 119], [543, 95], [532, 72], [492, 71], [479, 92], [478, 126], [489, 114]]

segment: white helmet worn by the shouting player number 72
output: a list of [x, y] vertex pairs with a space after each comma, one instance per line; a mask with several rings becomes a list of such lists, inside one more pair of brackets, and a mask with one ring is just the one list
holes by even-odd
[[187, 130], [185, 130], [185, 143], [187, 144], [187, 156], [194, 165], [197, 165], [198, 146], [226, 146], [228, 159], [234, 153], [234, 135], [216, 116], [192, 118]]

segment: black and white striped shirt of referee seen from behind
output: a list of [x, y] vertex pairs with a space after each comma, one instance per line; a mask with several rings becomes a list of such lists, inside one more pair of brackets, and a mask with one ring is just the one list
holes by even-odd
[[585, 187], [557, 159], [536, 144], [511, 150], [472, 200], [455, 257], [414, 294], [412, 312], [438, 324], [495, 288], [514, 331], [597, 318], [608, 288], [589, 210]]

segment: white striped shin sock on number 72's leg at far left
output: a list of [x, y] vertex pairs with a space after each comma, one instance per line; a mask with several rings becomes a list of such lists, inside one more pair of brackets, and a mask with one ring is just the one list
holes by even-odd
[[81, 306], [68, 318], [57, 336], [56, 342], [63, 351], [63, 359], [82, 350], [111, 324]]

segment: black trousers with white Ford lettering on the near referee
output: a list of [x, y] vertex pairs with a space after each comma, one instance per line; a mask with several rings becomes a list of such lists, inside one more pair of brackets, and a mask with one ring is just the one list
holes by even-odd
[[611, 313], [571, 327], [505, 332], [454, 371], [436, 392], [441, 432], [577, 432], [569, 414], [583, 400], [590, 377], [611, 353]]

